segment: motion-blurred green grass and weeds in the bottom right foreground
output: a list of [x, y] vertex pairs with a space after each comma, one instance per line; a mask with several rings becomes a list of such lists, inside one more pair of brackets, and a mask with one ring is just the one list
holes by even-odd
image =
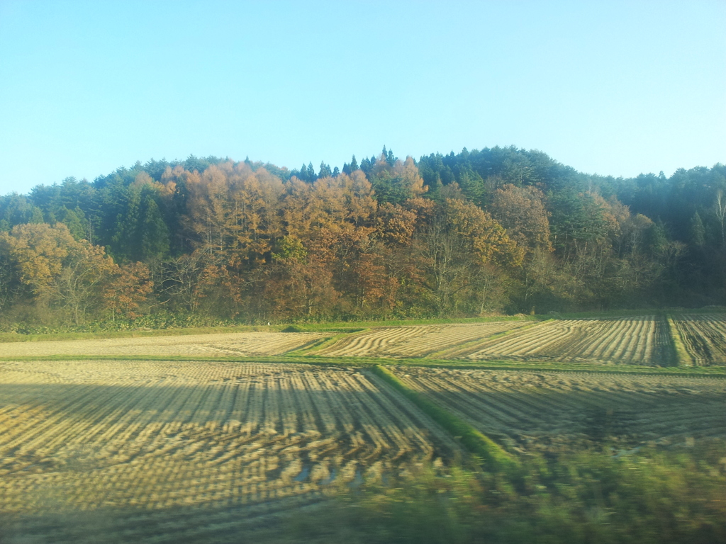
[[726, 542], [726, 442], [527, 456], [506, 474], [412, 466], [330, 493], [274, 541], [309, 543]]

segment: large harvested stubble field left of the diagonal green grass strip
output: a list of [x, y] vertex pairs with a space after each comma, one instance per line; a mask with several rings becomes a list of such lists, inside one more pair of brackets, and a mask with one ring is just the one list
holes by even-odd
[[205, 531], [224, 541], [219, 532], [314, 502], [326, 484], [375, 480], [454, 449], [417, 408], [353, 369], [0, 363], [0, 514], [32, 542], [83, 540], [47, 521], [64, 512], [115, 519], [125, 541]]

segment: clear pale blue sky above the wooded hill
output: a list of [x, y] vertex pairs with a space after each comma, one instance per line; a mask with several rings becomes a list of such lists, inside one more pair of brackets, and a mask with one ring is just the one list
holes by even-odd
[[0, 0], [0, 194], [150, 158], [726, 162], [726, 1]]

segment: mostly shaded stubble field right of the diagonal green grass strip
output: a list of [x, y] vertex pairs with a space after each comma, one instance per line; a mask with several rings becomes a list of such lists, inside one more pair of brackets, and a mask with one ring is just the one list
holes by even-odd
[[396, 375], [484, 434], [519, 450], [602, 440], [726, 437], [726, 379], [398, 367]]

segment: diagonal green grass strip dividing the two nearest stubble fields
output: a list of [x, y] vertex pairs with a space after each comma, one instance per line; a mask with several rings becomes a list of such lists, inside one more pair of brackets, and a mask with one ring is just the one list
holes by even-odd
[[494, 440], [479, 432], [466, 421], [454, 416], [453, 413], [444, 410], [438, 404], [432, 403], [424, 395], [412, 390], [385, 366], [375, 365], [372, 367], [372, 371], [391, 385], [393, 389], [398, 390], [401, 395], [417, 405], [433, 421], [436, 421], [446, 431], [457, 437], [470, 453], [481, 458], [485, 469], [509, 471], [517, 465], [517, 461], [505, 450], [502, 450]]

